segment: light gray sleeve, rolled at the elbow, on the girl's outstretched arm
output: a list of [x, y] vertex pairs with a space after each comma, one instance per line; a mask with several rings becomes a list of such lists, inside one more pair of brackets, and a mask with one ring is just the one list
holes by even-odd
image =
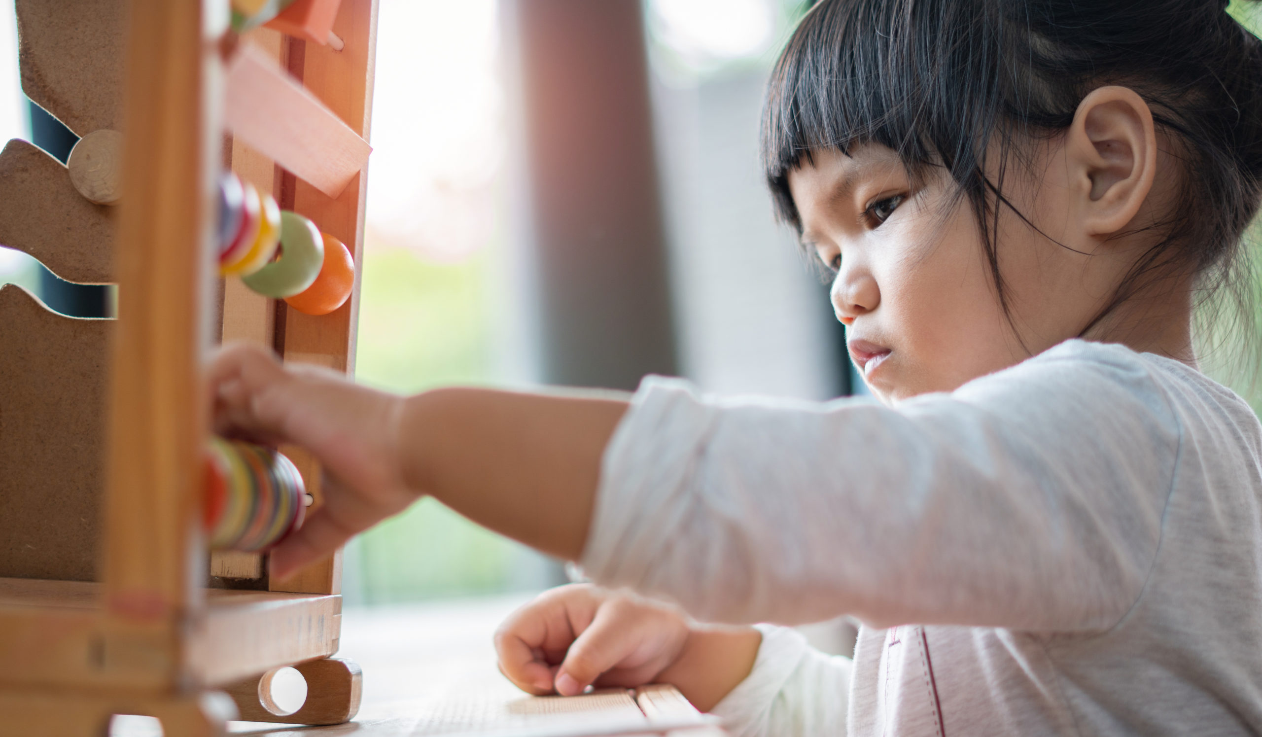
[[1179, 425], [1138, 355], [1075, 343], [895, 408], [646, 380], [583, 567], [704, 621], [1107, 628], [1153, 560]]

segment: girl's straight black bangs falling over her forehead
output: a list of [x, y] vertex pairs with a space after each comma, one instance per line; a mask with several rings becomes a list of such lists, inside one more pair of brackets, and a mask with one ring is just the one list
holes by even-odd
[[912, 179], [941, 165], [984, 188], [981, 151], [1002, 107], [998, 15], [988, 0], [813, 8], [767, 86], [762, 165], [777, 217], [801, 231], [787, 178], [811, 151], [868, 143], [893, 149]]

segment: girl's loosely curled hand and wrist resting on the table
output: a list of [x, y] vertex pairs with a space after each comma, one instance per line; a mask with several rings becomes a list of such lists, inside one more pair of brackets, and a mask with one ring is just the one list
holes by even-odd
[[495, 634], [500, 670], [528, 693], [670, 683], [702, 710], [745, 680], [761, 641], [750, 627], [698, 625], [675, 607], [589, 584], [544, 592]]

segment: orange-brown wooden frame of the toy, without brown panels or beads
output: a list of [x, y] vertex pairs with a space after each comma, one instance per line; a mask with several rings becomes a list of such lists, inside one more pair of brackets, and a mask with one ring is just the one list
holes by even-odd
[[[67, 5], [90, 8], [92, 3]], [[96, 3], [111, 13], [120, 5]], [[35, 558], [21, 563], [21, 577], [3, 573], [10, 577], [0, 578], [0, 713], [5, 716], [0, 736], [101, 734], [117, 713], [158, 717], [168, 737], [208, 736], [222, 733], [225, 721], [237, 714], [329, 724], [350, 719], [358, 708], [358, 668], [331, 657], [341, 631], [341, 554], [289, 579], [271, 581], [257, 557], [208, 557], [199, 529], [201, 463], [209, 422], [203, 367], [215, 337], [255, 341], [274, 347], [286, 362], [350, 372], [358, 309], [358, 281], [351, 300], [323, 317], [261, 298], [236, 280], [217, 283], [211, 245], [217, 174], [225, 163], [231, 164], [242, 178], [273, 192], [281, 207], [342, 240], [357, 264], [362, 262], [366, 194], [363, 172], [339, 197], [329, 198], [221, 133], [225, 28], [218, 15], [226, 15], [226, 9], [212, 0], [130, 1], [121, 115], [125, 194], [117, 216], [74, 199], [59, 183], [48, 186], [57, 198], [49, 201], [48, 187], [9, 177], [0, 163], [0, 236], [16, 239], [6, 245], [24, 247], [29, 241], [25, 250], [64, 278], [120, 284], [116, 324], [56, 315], [16, 289], [6, 288], [0, 297], [4, 315], [20, 312], [32, 324], [52, 324], [50, 332], [59, 336], [33, 341], [24, 357], [10, 361], [13, 366], [0, 355], [0, 374], [18, 371], [16, 363], [45, 347], [48, 352], [40, 355], [52, 366], [56, 350], [68, 355], [98, 346], [103, 352], [112, 343], [107, 366], [87, 375], [86, 384], [82, 377], [35, 376], [28, 387], [38, 392], [77, 382], [83, 387], [76, 391], [88, 396], [96, 381], [98, 394], [107, 391], [109, 413], [87, 418], [105, 438], [101, 463], [93, 466], [96, 456], [81, 453], [76, 462], [85, 469], [76, 478], [83, 480], [83, 488], [54, 490], [83, 501], [85, 524], [98, 524], [100, 553], [88, 545], [77, 559], [58, 559], [61, 568], [52, 565], [47, 574], [39, 573]], [[266, 29], [241, 42], [275, 54], [367, 138], [375, 25], [376, 0], [343, 0], [334, 21], [341, 50]], [[110, 43], [121, 45], [117, 39]], [[83, 126], [114, 122], [82, 122], [90, 116], [58, 110], [56, 101], [42, 100], [38, 90], [33, 93], [39, 80], [25, 80], [27, 71], [24, 66], [32, 98], [72, 129], [80, 125], [80, 135], [91, 131]], [[50, 180], [35, 169], [52, 170], [56, 162], [42, 160], [38, 151], [20, 144], [14, 150], [32, 160], [18, 174]], [[10, 160], [16, 159], [6, 153], [5, 162]], [[20, 220], [23, 201], [40, 212], [52, 207], [47, 202], [76, 208], [68, 217], [69, 232], [95, 233], [97, 244], [112, 239], [114, 279], [106, 278], [110, 259], [102, 259], [100, 249], [81, 252], [48, 244], [32, 235], [33, 228], [4, 222]], [[116, 233], [111, 221], [116, 221]], [[14, 231], [18, 235], [9, 236]], [[0, 326], [0, 338], [6, 326]], [[37, 336], [40, 328], [28, 332]], [[0, 452], [4, 437], [0, 424]], [[321, 504], [317, 464], [297, 449], [286, 453]], [[5, 463], [14, 468], [6, 469]], [[0, 453], [0, 473], [20, 463]], [[98, 466], [107, 469], [106, 483], [93, 475]], [[105, 487], [103, 498], [85, 500], [93, 485]], [[35, 514], [30, 510], [37, 507], [21, 509]], [[98, 510], [96, 516], [88, 514], [92, 510]], [[4, 530], [0, 520], [0, 553]], [[67, 546], [85, 545], [71, 536]], [[260, 679], [295, 664], [308, 679], [307, 704], [295, 714], [278, 717], [266, 708]]]

